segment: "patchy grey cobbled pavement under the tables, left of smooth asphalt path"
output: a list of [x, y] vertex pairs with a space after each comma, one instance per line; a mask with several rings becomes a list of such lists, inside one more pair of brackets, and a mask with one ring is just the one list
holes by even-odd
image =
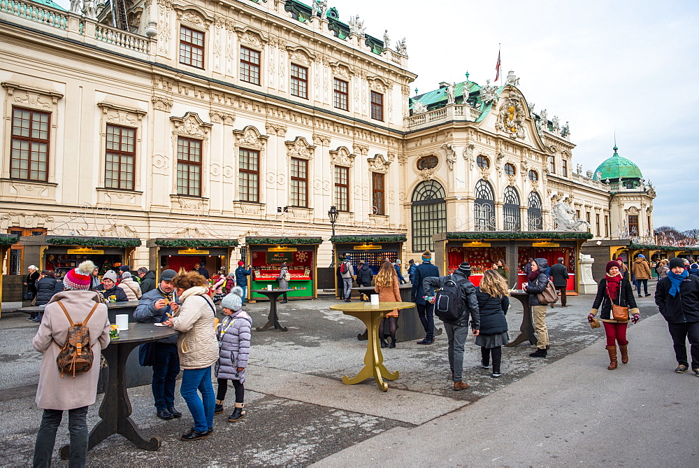
[[[384, 350], [386, 367], [401, 372], [398, 380], [389, 382], [386, 393], [377, 389], [373, 379], [359, 385], [341, 383], [343, 375], [359, 371], [366, 342], [356, 339], [363, 331], [359, 320], [329, 310], [338, 303], [334, 298], [280, 304], [280, 322], [289, 331], [268, 329], [252, 334], [245, 382], [247, 416], [243, 420], [227, 422], [232, 404], [226, 402], [226, 413], [215, 416], [211, 437], [182, 442], [179, 434], [192, 426], [192, 420], [179, 390], [175, 404], [184, 416], [161, 421], [154, 417], [150, 386], [131, 388], [131, 417], [146, 433], [163, 439], [161, 449], [142, 451], [115, 435], [90, 451], [88, 462], [92, 466], [309, 465], [387, 430], [424, 425], [598, 343], [604, 332], [591, 329], [585, 320], [592, 300], [589, 295], [568, 297], [568, 308], [549, 309], [549, 357], [528, 357], [534, 349], [528, 343], [505, 348], [500, 379], [491, 378], [489, 371], [480, 368], [480, 349], [470, 338], [464, 357], [464, 380], [470, 385], [466, 391], [452, 390], [445, 335], [438, 336], [432, 346], [398, 343], [396, 348]], [[652, 297], [638, 301], [642, 318], [656, 313]], [[246, 308], [256, 326], [266, 322], [268, 303]], [[20, 313], [4, 313], [0, 319], [2, 466], [31, 463], [41, 420], [41, 410], [34, 404], [41, 355], [31, 348], [37, 325], [25, 319]], [[507, 320], [514, 339], [521, 323], [519, 302], [513, 301]], [[439, 321], [437, 326], [441, 327]], [[99, 419], [100, 401], [98, 395], [97, 404], [90, 408], [90, 427]], [[56, 445], [67, 441], [64, 423]], [[55, 466], [66, 466], [57, 457], [54, 462]]]

